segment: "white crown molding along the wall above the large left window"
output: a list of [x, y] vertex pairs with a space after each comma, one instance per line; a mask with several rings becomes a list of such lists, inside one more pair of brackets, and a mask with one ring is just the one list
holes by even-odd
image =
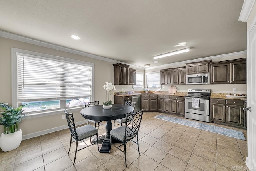
[[130, 65], [132, 68], [137, 68], [137, 69], [144, 70], [144, 67], [135, 66], [135, 65], [132, 65], [132, 64], [127, 64], [127, 63], [124, 63], [124, 62], [121, 62], [121, 61], [112, 60], [112, 59], [105, 58], [105, 57], [102, 57], [102, 56], [89, 54], [89, 53], [86, 53], [86, 52], [82, 52], [80, 50], [74, 50], [74, 49], [71, 49], [71, 48], [66, 48], [64, 46], [59, 46], [59, 45], [56, 45], [56, 44], [43, 42], [43, 41], [40, 41], [40, 40], [28, 38], [28, 37], [25, 37], [25, 36], [20, 36], [18, 34], [13, 34], [13, 33], [10, 33], [10, 32], [4, 32], [2, 30], [0, 30], [0, 36], [4, 37], [4, 38], [13, 39], [13, 40], [18, 40], [20, 42], [26, 42], [26, 43], [30, 43], [30, 44], [34, 44], [34, 45], [38, 45], [38, 46], [43, 46], [43, 47], [46, 47], [46, 48], [51, 48], [51, 49], [55, 49], [55, 50], [69, 52], [69, 53], [72, 53], [72, 54], [86, 56], [86, 57], [89, 57], [89, 58], [103, 60], [103, 61], [106, 61], [106, 62], [122, 63], [122, 64]]

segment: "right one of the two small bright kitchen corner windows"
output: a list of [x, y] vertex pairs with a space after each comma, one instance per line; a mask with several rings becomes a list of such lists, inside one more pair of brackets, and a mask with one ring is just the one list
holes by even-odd
[[146, 86], [148, 88], [160, 88], [160, 72], [146, 73]]

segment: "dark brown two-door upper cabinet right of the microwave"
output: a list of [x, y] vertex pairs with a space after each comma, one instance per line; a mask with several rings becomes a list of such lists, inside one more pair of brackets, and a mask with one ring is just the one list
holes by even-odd
[[246, 58], [212, 62], [210, 84], [246, 84]]

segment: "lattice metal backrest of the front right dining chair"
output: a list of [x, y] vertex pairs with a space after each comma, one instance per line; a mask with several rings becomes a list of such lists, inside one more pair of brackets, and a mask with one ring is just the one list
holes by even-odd
[[[143, 109], [136, 113], [130, 113], [126, 115], [125, 122], [125, 139], [126, 137], [135, 137], [140, 129], [140, 123], [143, 115]], [[129, 138], [130, 139], [130, 138]]]

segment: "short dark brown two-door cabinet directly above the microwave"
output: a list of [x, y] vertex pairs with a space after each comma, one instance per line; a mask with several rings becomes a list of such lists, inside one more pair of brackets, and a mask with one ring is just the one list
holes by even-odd
[[187, 74], [189, 75], [189, 74], [209, 73], [210, 62], [212, 62], [212, 60], [186, 63]]

